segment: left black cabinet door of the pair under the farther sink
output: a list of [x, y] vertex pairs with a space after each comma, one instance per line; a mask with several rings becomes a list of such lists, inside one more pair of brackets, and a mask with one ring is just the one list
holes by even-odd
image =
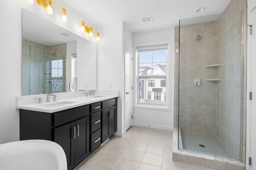
[[102, 130], [102, 143], [106, 141], [109, 138], [109, 131], [108, 131], [108, 119], [110, 117], [110, 111], [109, 109], [102, 110], [102, 125], [101, 125], [101, 130]]

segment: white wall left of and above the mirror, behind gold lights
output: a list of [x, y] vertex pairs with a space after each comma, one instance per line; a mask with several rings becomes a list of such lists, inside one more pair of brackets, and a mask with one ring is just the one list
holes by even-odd
[[3, 1], [0, 6], [0, 144], [19, 140], [19, 110], [15, 107], [15, 97], [21, 95], [21, 51], [22, 51], [22, 8], [60, 25], [77, 35], [86, 37], [79, 31], [82, 20], [90, 24], [94, 29], [97, 25], [87, 20], [74, 8], [68, 6], [62, 0], [54, 0], [67, 10], [68, 21], [60, 21], [61, 10], [54, 8], [53, 15], [48, 15], [37, 4], [30, 5], [25, 0]]

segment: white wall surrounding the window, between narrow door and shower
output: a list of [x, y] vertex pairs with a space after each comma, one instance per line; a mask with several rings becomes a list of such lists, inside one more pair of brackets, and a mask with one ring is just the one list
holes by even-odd
[[[156, 43], [162, 42], [171, 42], [169, 46], [169, 70], [168, 70], [168, 83], [166, 82], [166, 86], [168, 86], [168, 109], [152, 109], [152, 108], [142, 108], [137, 107], [134, 103], [134, 125], [144, 126], [144, 127], [152, 127], [158, 129], [173, 129], [173, 81], [174, 81], [174, 28], [159, 30], [159, 31], [151, 31], [145, 33], [136, 33], [133, 35], [133, 44], [135, 46], [139, 45], [152, 45]], [[134, 60], [135, 61], [135, 60]], [[136, 74], [136, 73], [135, 73]], [[135, 84], [134, 84], [135, 85]], [[135, 85], [136, 86], [136, 85]], [[136, 89], [136, 88], [135, 88]], [[136, 90], [134, 94], [136, 93]], [[134, 101], [135, 100], [134, 95]]]

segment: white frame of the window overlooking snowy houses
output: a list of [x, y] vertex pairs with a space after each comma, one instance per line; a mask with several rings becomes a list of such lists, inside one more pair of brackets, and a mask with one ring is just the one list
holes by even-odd
[[[162, 44], [168, 44], [168, 51], [167, 51], [167, 57], [166, 57], [166, 105], [160, 105], [160, 104], [144, 104], [139, 103], [139, 78], [138, 78], [138, 70], [139, 70], [139, 59], [138, 59], [138, 50], [137, 47], [142, 46], [150, 46], [150, 45], [162, 45]], [[164, 41], [164, 42], [158, 42], [158, 43], [145, 43], [145, 44], [135, 44], [134, 45], [134, 108], [140, 108], [140, 109], [155, 109], [155, 110], [166, 110], [171, 111], [171, 102], [173, 97], [173, 86], [171, 85], [170, 81], [173, 79], [172, 72], [173, 72], [173, 64], [171, 63], [171, 52], [172, 45], [170, 41]], [[152, 98], [152, 96], [151, 96]]]

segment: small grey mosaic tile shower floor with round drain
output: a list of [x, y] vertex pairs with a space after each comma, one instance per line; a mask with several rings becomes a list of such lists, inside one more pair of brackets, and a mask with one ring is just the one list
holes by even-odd
[[[182, 147], [185, 150], [233, 158], [216, 136], [181, 132], [181, 137]], [[206, 147], [200, 147], [199, 144]]]

